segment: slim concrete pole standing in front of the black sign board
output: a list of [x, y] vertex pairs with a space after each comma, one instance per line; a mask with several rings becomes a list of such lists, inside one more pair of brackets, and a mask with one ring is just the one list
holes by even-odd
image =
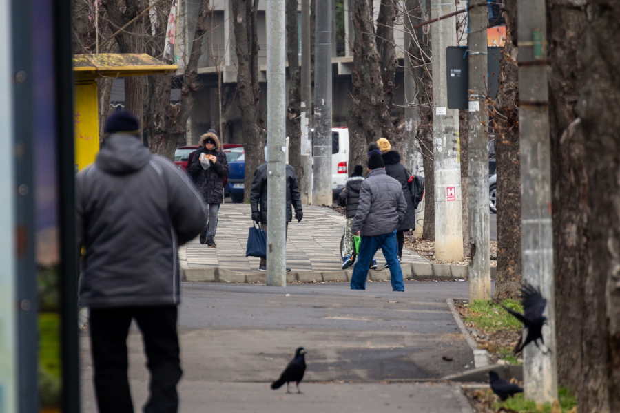
[[[488, 224], [488, 111], [486, 109], [488, 7], [469, 10], [469, 301], [490, 299]], [[466, 159], [463, 160], [467, 162]]]

